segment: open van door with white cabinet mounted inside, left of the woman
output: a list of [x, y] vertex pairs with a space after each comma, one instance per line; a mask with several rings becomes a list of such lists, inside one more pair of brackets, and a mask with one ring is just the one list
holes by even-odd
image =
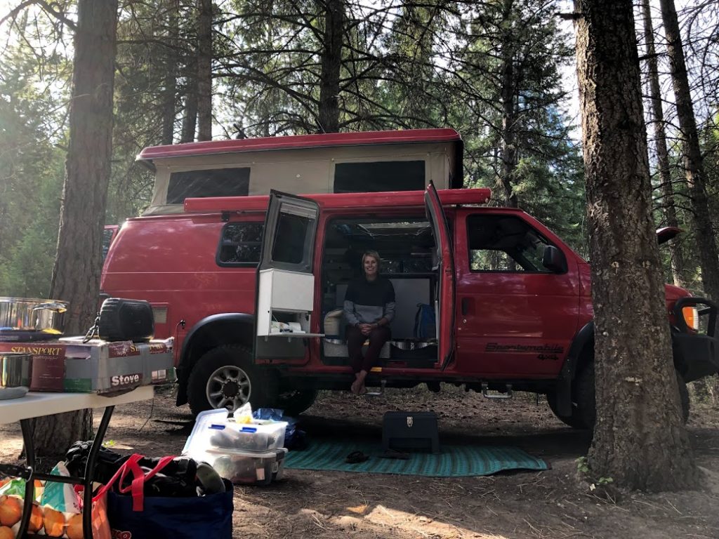
[[255, 359], [302, 359], [314, 308], [319, 204], [270, 192], [257, 267]]

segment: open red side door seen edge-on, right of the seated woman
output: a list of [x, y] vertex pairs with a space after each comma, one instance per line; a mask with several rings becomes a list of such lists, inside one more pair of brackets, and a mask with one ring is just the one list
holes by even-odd
[[444, 210], [439, 195], [431, 181], [424, 192], [427, 218], [432, 226], [436, 245], [438, 282], [435, 287], [437, 338], [439, 339], [439, 364], [446, 369], [454, 359], [454, 254]]

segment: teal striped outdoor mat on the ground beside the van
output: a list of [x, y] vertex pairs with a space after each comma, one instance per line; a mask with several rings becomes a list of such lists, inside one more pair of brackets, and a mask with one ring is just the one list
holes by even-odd
[[[462, 477], [491, 475], [503, 470], [546, 470], [549, 466], [525, 451], [503, 446], [441, 446], [441, 453], [409, 453], [408, 460], [383, 459], [377, 443], [314, 440], [303, 451], [290, 451], [285, 468], [363, 471], [368, 474]], [[344, 461], [352, 451], [369, 456], [365, 462]]]

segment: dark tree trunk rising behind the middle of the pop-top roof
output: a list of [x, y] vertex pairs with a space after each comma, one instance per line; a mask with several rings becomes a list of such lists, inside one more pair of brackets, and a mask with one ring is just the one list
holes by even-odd
[[344, 1], [327, 0], [325, 6], [317, 121], [320, 133], [336, 133], [339, 132], [339, 71], [342, 65]]

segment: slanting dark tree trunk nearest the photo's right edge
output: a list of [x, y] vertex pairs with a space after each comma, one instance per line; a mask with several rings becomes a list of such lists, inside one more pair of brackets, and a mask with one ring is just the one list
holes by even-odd
[[705, 293], [719, 301], [719, 252], [709, 213], [706, 175], [702, 163], [699, 145], [697, 121], [692, 107], [692, 94], [687, 77], [687, 65], [684, 62], [682, 36], [679, 34], [679, 21], [674, 0], [659, 0], [664, 32], [667, 34], [667, 52], [669, 53], [669, 71], [672, 73], [674, 100], [677, 103], [679, 129], [682, 131], [684, 147], [684, 169], [687, 175], [692, 198], [692, 215], [697, 234], [697, 249], [702, 267], [702, 284]]

